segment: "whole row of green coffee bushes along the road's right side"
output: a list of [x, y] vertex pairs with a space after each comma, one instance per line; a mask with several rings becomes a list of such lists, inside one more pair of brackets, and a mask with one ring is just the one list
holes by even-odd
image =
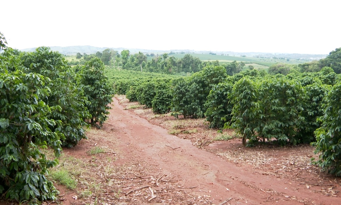
[[223, 67], [208, 66], [192, 76], [161, 82], [132, 81], [127, 97], [155, 113], [162, 107], [160, 113], [206, 117], [211, 127], [233, 128], [244, 145], [315, 142], [322, 152], [318, 164], [340, 175], [341, 85], [331, 68], [314, 73], [292, 70], [286, 76], [257, 70], [227, 76]]

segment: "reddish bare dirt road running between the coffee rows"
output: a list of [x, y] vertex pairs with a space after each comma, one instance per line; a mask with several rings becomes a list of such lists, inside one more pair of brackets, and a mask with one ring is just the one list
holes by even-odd
[[[207, 204], [340, 204], [338, 197], [322, 195], [299, 186], [297, 181], [227, 162], [124, 110], [117, 99], [113, 104], [104, 130], [118, 139], [115, 149], [125, 153], [126, 159], [138, 158], [160, 174], [176, 178], [188, 196], [183, 204], [189, 204], [193, 196], [200, 199], [203, 195], [209, 195]], [[168, 203], [167, 199], [161, 202]]]

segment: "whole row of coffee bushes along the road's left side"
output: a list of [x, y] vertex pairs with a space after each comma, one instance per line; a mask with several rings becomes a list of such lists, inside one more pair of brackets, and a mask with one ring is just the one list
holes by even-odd
[[55, 200], [58, 191], [47, 180], [62, 146], [85, 138], [89, 123], [101, 126], [113, 88], [104, 65], [92, 59], [71, 68], [63, 55], [47, 47], [26, 53], [4, 47], [0, 54], [0, 195], [30, 204]]

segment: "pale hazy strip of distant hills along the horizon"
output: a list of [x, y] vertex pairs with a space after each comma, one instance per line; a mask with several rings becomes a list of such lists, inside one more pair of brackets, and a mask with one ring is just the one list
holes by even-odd
[[[75, 56], [77, 53], [80, 54], [93, 54], [96, 52], [102, 52], [103, 50], [107, 49], [108, 47], [94, 47], [94, 46], [67, 46], [67, 47], [60, 47], [60, 46], [51, 46], [51, 50], [58, 51], [64, 55]], [[144, 54], [163, 54], [173, 52], [176, 54], [209, 54], [212, 51], [207, 50], [148, 50], [148, 49], [139, 49], [139, 48], [110, 48], [113, 50], [117, 50], [119, 53], [122, 50], [128, 49], [131, 54], [142, 52]], [[32, 52], [35, 48], [25, 48], [21, 49], [21, 51], [25, 52]], [[236, 57], [254, 57], [254, 58], [290, 58], [290, 59], [306, 59], [306, 60], [319, 60], [321, 58], [325, 58], [327, 54], [287, 54], [287, 53], [260, 53], [260, 52], [249, 52], [249, 53], [237, 53], [231, 51], [224, 51], [224, 52], [214, 52], [217, 56], [236, 56]], [[212, 56], [213, 57], [213, 56]], [[212, 59], [215, 59], [214, 57]]]

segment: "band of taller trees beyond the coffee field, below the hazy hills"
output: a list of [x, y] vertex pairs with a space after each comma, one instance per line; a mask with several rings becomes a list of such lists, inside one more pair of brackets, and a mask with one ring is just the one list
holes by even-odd
[[[105, 65], [110, 67], [133, 70], [133, 71], [145, 71], [156, 72], [164, 74], [186, 74], [195, 73], [201, 71], [207, 65], [222, 65], [225, 67], [228, 75], [239, 73], [242, 70], [250, 69], [254, 67], [252, 65], [246, 66], [245, 62], [219, 62], [216, 61], [201, 61], [197, 57], [193, 57], [190, 54], [186, 54], [183, 58], [176, 58], [172, 56], [174, 52], [164, 53], [162, 55], [144, 54], [142, 52], [131, 54], [129, 50], [123, 50], [118, 52], [112, 49], [105, 49], [103, 52], [97, 52], [95, 54], [81, 55], [76, 54], [76, 59], [79, 61], [69, 61], [70, 65], [84, 64], [93, 57], [98, 57]], [[269, 74], [283, 74], [287, 75], [291, 70], [298, 70], [300, 72], [318, 72], [323, 67], [330, 67], [336, 74], [341, 73], [341, 48], [336, 48], [331, 51], [326, 58], [318, 61], [311, 61], [301, 64], [286, 64], [275, 63], [268, 69]]]

